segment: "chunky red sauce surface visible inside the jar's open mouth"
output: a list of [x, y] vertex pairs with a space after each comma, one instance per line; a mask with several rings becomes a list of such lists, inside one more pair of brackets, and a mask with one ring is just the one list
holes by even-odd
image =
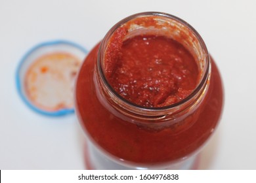
[[[107, 53], [112, 53], [112, 46]], [[108, 81], [121, 97], [144, 107], [162, 107], [187, 97], [198, 80], [193, 56], [166, 37], [137, 36], [123, 42], [119, 54], [106, 56], [114, 63]]]

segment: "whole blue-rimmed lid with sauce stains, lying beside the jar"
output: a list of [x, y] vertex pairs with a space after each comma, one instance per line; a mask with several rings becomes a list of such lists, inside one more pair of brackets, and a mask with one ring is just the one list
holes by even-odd
[[74, 113], [75, 76], [86, 56], [85, 48], [70, 41], [34, 46], [21, 59], [16, 71], [20, 97], [41, 114]]

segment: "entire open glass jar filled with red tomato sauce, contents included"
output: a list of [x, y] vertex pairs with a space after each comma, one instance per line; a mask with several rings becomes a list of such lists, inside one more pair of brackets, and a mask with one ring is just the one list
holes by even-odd
[[223, 86], [197, 31], [161, 12], [118, 22], [77, 76], [89, 169], [194, 169], [219, 122]]

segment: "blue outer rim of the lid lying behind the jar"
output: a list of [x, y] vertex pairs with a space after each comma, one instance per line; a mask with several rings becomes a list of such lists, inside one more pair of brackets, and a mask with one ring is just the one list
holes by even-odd
[[55, 40], [55, 41], [42, 42], [40, 44], [37, 44], [37, 45], [33, 46], [32, 48], [30, 48], [30, 50], [28, 50], [28, 52], [22, 57], [22, 59], [20, 59], [20, 62], [18, 64], [18, 67], [15, 72], [15, 83], [16, 83], [16, 88], [18, 90], [18, 94], [20, 95], [22, 101], [24, 101], [24, 103], [26, 103], [26, 105], [28, 105], [28, 107], [30, 107], [32, 110], [34, 110], [35, 112], [38, 112], [39, 114], [43, 114], [46, 116], [64, 116], [66, 114], [74, 113], [75, 109], [74, 108], [64, 108], [61, 110], [56, 110], [56, 111], [51, 112], [51, 111], [42, 110], [41, 108], [35, 107], [27, 99], [27, 97], [23, 95], [22, 81], [20, 80], [20, 76], [19, 76], [20, 69], [21, 69], [23, 63], [26, 61], [28, 56], [30, 56], [30, 54], [32, 54], [32, 52], [34, 52], [35, 50], [37, 50], [38, 48], [41, 48], [43, 46], [50, 46], [50, 45], [54, 45], [54, 44], [69, 44], [71, 46], [74, 46], [75, 48], [78, 48], [85, 54], [88, 53], [87, 50], [85, 48], [83, 48], [82, 46], [80, 46], [79, 44], [77, 44], [75, 42], [71, 42], [71, 41], [66, 41], [66, 40]]

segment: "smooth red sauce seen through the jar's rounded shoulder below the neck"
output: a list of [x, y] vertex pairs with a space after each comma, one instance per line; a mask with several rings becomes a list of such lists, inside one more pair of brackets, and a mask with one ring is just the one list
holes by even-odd
[[198, 120], [193, 125], [152, 132], [117, 118], [100, 103], [93, 83], [97, 52], [98, 46], [87, 56], [77, 78], [77, 115], [91, 139], [106, 152], [137, 163], [174, 161], [197, 150], [213, 133], [223, 103], [221, 78], [213, 61], [211, 82], [200, 114], [191, 116]]

